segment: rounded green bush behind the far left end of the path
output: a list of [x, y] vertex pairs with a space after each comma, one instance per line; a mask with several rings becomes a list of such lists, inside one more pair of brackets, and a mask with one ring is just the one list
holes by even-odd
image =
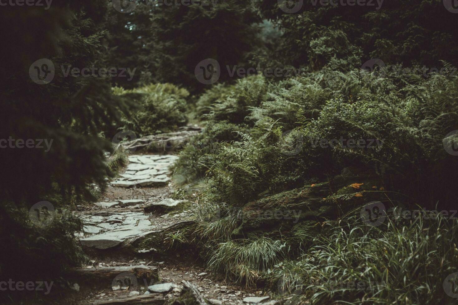
[[131, 90], [114, 87], [113, 92], [136, 102], [136, 109], [123, 118], [123, 129], [148, 135], [172, 131], [187, 122], [189, 92], [186, 89], [172, 84], [151, 84]]

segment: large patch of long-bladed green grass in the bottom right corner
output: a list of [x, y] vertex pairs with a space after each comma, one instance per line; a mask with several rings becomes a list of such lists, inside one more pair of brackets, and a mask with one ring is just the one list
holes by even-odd
[[440, 214], [387, 219], [385, 226], [352, 223], [314, 239], [299, 260], [277, 266], [274, 280], [311, 304], [454, 304], [443, 282], [458, 267], [458, 221]]

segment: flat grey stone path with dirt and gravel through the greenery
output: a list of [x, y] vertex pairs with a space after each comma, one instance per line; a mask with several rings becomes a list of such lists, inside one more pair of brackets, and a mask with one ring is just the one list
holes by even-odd
[[[149, 236], [157, 235], [163, 242], [164, 232], [173, 232], [177, 225], [191, 222], [191, 203], [170, 198], [173, 190], [169, 184], [169, 166], [176, 159], [174, 155], [130, 155], [125, 171], [110, 183], [104, 200], [75, 212], [84, 222], [80, 241], [92, 259], [92, 265], [85, 267], [88, 272], [120, 268], [117, 266], [156, 268], [159, 281], [137, 280], [134, 276], [133, 281], [123, 286], [125, 278], [132, 274], [121, 273], [117, 279], [99, 281], [97, 288], [84, 287], [81, 281], [72, 283], [73, 286], [77, 284], [75, 287], [79, 290], [79, 298], [72, 300], [75, 301], [72, 304], [140, 304], [146, 301], [145, 304], [164, 304], [179, 296], [187, 282], [195, 285], [208, 304], [276, 304], [263, 297], [262, 291], [248, 291], [224, 283], [220, 275], [190, 260], [191, 249], [167, 251], [167, 254], [159, 254], [165, 251], [153, 248], [125, 252], [127, 254], [118, 251], [127, 249], [132, 241]], [[154, 286], [156, 284], [160, 286]], [[147, 297], [150, 294], [151, 298]]]

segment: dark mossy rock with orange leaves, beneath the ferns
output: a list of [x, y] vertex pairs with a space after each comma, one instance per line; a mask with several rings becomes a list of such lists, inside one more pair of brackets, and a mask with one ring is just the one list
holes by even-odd
[[296, 244], [299, 235], [316, 236], [324, 222], [340, 219], [377, 198], [385, 198], [377, 177], [312, 184], [247, 203], [242, 208], [241, 225], [232, 235], [247, 238], [267, 234], [273, 238], [281, 233]]

